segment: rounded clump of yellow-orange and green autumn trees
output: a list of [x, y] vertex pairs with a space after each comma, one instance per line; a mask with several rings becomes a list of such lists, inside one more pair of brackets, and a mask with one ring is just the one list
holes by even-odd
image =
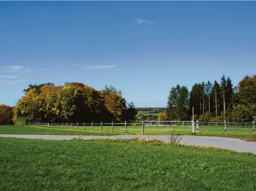
[[121, 91], [112, 86], [96, 90], [72, 82], [64, 86], [53, 83], [29, 85], [13, 109], [13, 122], [130, 122], [137, 111], [127, 103]]

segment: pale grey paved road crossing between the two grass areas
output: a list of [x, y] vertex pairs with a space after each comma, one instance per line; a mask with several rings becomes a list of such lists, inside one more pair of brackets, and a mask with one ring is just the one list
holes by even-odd
[[[166, 141], [168, 136], [139, 136], [139, 135], [116, 135], [116, 136], [72, 136], [72, 135], [5, 135], [0, 134], [0, 137], [16, 137], [29, 139], [54, 139], [54, 140], [70, 140], [73, 138], [95, 139], [95, 138], [109, 138], [109, 139], [129, 139], [140, 137], [140, 139], [158, 139]], [[237, 152], [251, 152], [256, 154], [256, 143], [246, 142], [240, 139], [224, 138], [224, 137], [206, 137], [206, 136], [182, 136], [181, 144], [197, 145], [197, 146], [212, 146], [216, 148], [227, 148]]]

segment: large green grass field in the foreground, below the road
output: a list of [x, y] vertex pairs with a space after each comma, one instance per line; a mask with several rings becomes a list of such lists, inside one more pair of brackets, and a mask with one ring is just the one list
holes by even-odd
[[0, 138], [0, 190], [256, 190], [256, 156], [138, 140]]

